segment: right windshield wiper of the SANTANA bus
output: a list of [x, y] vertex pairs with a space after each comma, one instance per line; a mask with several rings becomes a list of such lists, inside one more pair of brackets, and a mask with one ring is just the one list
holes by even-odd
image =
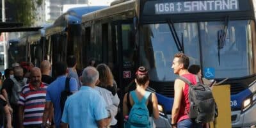
[[225, 17], [225, 24], [223, 25], [223, 28], [221, 31], [218, 31], [218, 60], [219, 60], [219, 65], [220, 65], [220, 49], [224, 47], [225, 43], [225, 38], [227, 35], [227, 29], [228, 29], [228, 22], [229, 22], [229, 17]]

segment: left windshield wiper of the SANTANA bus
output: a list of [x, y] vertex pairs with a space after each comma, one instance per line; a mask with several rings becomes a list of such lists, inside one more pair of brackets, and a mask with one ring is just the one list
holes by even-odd
[[168, 22], [168, 26], [170, 28], [170, 31], [172, 32], [173, 40], [176, 44], [176, 47], [177, 47], [178, 51], [184, 53], [183, 34], [181, 33], [182, 40], [180, 42], [180, 39], [177, 35], [177, 31], [174, 28], [173, 22], [171, 20], [167, 20], [167, 22]]

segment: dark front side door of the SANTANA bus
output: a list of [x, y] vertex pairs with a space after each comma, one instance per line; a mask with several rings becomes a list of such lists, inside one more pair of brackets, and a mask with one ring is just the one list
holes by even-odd
[[[116, 45], [116, 59], [113, 74], [120, 88], [121, 98], [128, 91], [129, 86], [134, 84], [136, 65], [136, 49], [134, 47], [133, 25], [129, 22], [118, 22], [112, 27], [112, 42]], [[118, 79], [117, 79], [118, 78]]]

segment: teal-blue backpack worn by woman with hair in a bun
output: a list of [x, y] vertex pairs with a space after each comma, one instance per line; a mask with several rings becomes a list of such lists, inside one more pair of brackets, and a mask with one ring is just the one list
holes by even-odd
[[151, 127], [150, 116], [146, 105], [147, 99], [151, 92], [146, 92], [141, 101], [138, 100], [136, 92], [131, 92], [132, 100], [134, 104], [129, 113], [129, 118], [125, 128], [136, 128], [136, 127]]

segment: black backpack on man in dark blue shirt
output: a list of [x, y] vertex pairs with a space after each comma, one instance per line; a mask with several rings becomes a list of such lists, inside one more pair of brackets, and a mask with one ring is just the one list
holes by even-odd
[[72, 95], [72, 93], [70, 92], [70, 89], [69, 89], [69, 81], [70, 81], [70, 77], [67, 77], [66, 81], [65, 81], [65, 89], [61, 92], [61, 95], [60, 95], [61, 115], [63, 113], [65, 102], [66, 102], [68, 96]]

